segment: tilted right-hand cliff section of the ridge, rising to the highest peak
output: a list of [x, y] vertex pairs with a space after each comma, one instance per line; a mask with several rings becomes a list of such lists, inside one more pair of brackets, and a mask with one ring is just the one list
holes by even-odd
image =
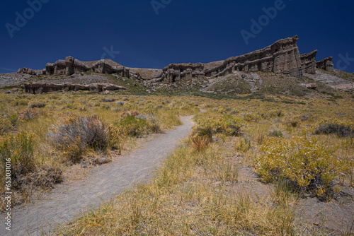
[[297, 40], [297, 35], [288, 37], [263, 49], [224, 61], [208, 64], [170, 64], [163, 69], [161, 76], [155, 76], [149, 82], [173, 83], [182, 78], [219, 77], [236, 71], [285, 73], [298, 78], [302, 78], [304, 73], [316, 73], [317, 50], [300, 55]]

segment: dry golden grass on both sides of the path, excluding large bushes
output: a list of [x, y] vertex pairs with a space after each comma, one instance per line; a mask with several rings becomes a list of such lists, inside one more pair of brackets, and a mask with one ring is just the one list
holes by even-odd
[[[240, 167], [255, 167], [255, 160], [263, 157], [260, 148], [268, 135], [280, 131], [282, 137], [278, 138], [282, 141], [307, 135], [326, 143], [336, 159], [348, 163], [348, 168], [338, 173], [331, 184], [338, 189], [354, 187], [353, 137], [314, 134], [318, 121], [324, 117], [353, 121], [353, 98], [342, 95], [343, 98], [331, 101], [317, 93], [306, 98], [266, 95], [248, 99], [247, 95], [241, 95], [244, 100], [81, 92], [1, 95], [0, 135], [5, 138], [21, 131], [33, 134], [33, 158], [36, 170], [40, 170], [36, 176], [46, 179], [50, 174], [45, 170], [67, 170], [65, 163], [57, 161], [64, 151], [55, 151], [47, 141], [50, 127], [58, 117], [97, 115], [110, 129], [108, 147], [122, 151], [137, 141], [118, 129], [125, 112], [137, 111], [146, 118], [147, 124], [164, 131], [180, 124], [178, 116], [197, 113], [196, 105], [199, 105], [208, 111], [197, 114], [195, 119], [207, 121], [200, 124], [210, 125], [212, 138], [193, 135], [156, 170], [152, 182], [130, 189], [98, 210], [82, 215], [58, 234], [326, 235], [321, 229], [302, 231], [307, 226], [301, 225], [297, 218], [297, 193], [284, 179], [275, 181], [274, 190], [263, 196], [255, 196], [247, 187], [236, 186], [243, 184], [239, 182]], [[122, 101], [123, 97], [127, 97], [124, 104], [110, 102]], [[28, 104], [40, 106], [28, 108]], [[35, 115], [27, 115], [32, 112]], [[24, 118], [17, 122], [16, 117], [7, 114]], [[208, 129], [205, 130], [207, 134]], [[82, 160], [96, 165], [101, 162], [100, 157], [101, 153], [89, 148]], [[353, 233], [350, 225], [343, 224], [342, 228], [347, 229], [342, 230], [343, 235]]]

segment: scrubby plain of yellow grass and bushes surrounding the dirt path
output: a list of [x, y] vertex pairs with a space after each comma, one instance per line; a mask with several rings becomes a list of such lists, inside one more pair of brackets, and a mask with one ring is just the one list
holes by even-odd
[[[164, 132], [181, 124], [179, 117], [195, 114], [190, 137], [156, 170], [152, 182], [118, 195], [58, 234], [302, 233], [300, 228], [307, 226], [298, 219], [299, 198], [330, 204], [342, 201], [346, 189], [354, 186], [353, 98], [335, 90], [307, 93], [282, 83], [271, 88], [281, 78], [263, 76], [270, 78], [249, 95], [226, 90], [161, 95], [169, 93], [167, 88], [146, 95], [133, 78], [115, 78], [134, 87], [132, 93], [2, 94], [1, 152], [21, 153], [16, 144], [20, 136], [31, 143], [30, 149], [23, 149], [31, 150], [28, 167], [15, 165], [24, 168], [15, 189], [16, 202], [28, 201], [30, 194], [25, 192], [55, 187], [62, 173], [73, 167], [108, 163], [111, 155], [132, 148], [137, 138]], [[218, 86], [222, 89], [222, 84]], [[329, 96], [335, 101], [329, 102]], [[207, 112], [199, 112], [200, 108]], [[11, 140], [14, 144], [5, 146]], [[16, 162], [12, 154], [11, 158]], [[247, 189], [252, 170], [268, 182], [253, 179], [259, 184], [254, 189], [266, 186], [270, 191], [254, 194]], [[321, 229], [308, 232], [322, 233]]]

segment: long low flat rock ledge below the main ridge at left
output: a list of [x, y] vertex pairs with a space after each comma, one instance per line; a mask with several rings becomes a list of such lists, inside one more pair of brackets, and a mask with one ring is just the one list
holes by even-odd
[[112, 90], [127, 90], [127, 88], [114, 85], [110, 83], [91, 83], [89, 85], [74, 84], [74, 83], [25, 83], [21, 86], [25, 93], [48, 93], [55, 91], [79, 91], [79, 90], [91, 90], [91, 91], [112, 91]]

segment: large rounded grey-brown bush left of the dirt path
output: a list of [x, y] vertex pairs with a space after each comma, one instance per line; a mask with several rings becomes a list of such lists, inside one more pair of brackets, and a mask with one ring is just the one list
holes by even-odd
[[69, 114], [63, 117], [47, 135], [50, 144], [76, 163], [87, 148], [106, 151], [109, 144], [108, 126], [97, 116]]

